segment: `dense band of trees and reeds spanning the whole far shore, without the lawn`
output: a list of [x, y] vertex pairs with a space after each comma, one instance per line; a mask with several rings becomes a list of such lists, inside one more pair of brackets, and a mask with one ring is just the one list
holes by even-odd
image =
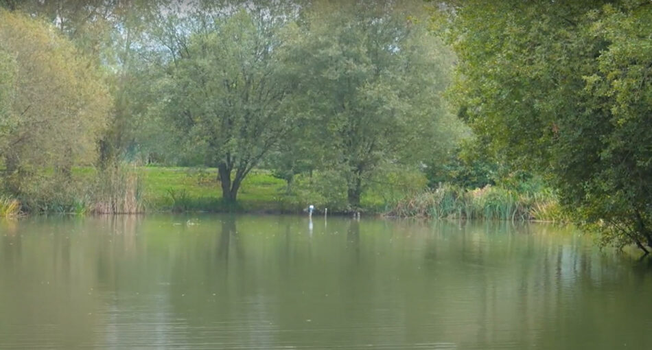
[[141, 211], [150, 164], [211, 170], [228, 207], [263, 169], [298, 206], [572, 217], [652, 247], [649, 1], [0, 6], [12, 207]]

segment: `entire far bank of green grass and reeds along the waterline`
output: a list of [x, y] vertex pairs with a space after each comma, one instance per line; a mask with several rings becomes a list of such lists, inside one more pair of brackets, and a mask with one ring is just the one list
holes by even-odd
[[[235, 207], [222, 200], [215, 169], [188, 167], [122, 167], [98, 173], [91, 167], [73, 169], [65, 184], [41, 183], [25, 198], [0, 198], [0, 217], [40, 213], [143, 213], [156, 211], [241, 211], [301, 213], [316, 205], [329, 213], [347, 213], [346, 187], [333, 174], [297, 176], [291, 191], [284, 180], [266, 170], [249, 174]], [[551, 191], [519, 191], [503, 187], [467, 190], [452, 185], [423, 191], [419, 174], [397, 170], [379, 174], [362, 196], [362, 211], [397, 217], [566, 221]], [[22, 205], [22, 206], [21, 206]]]

